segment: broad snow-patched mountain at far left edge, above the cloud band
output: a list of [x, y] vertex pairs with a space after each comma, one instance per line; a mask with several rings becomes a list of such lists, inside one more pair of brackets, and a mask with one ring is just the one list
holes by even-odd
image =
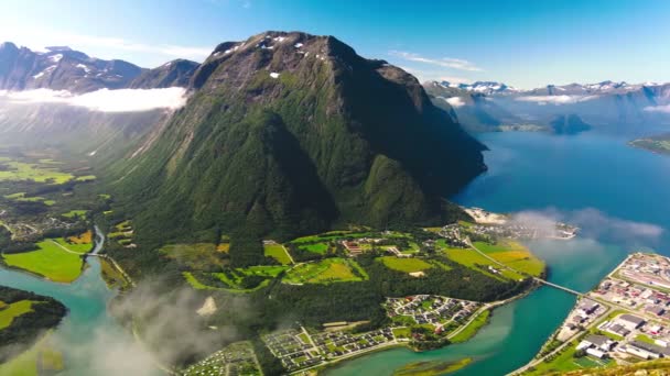
[[0, 90], [52, 89], [87, 92], [126, 88], [144, 69], [123, 60], [104, 60], [69, 47], [37, 53], [0, 44]]

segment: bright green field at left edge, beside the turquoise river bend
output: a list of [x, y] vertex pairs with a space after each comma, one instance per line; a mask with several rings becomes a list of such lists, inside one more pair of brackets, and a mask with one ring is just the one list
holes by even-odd
[[[3, 254], [9, 266], [18, 267], [58, 283], [72, 283], [82, 274], [84, 261], [76, 253], [85, 253], [83, 246], [74, 246], [63, 239], [45, 240], [36, 244], [37, 250], [24, 253]], [[76, 252], [69, 253], [62, 248]], [[87, 245], [90, 248], [90, 245]], [[76, 250], [76, 251], [75, 251]], [[90, 251], [90, 250], [88, 250]]]

